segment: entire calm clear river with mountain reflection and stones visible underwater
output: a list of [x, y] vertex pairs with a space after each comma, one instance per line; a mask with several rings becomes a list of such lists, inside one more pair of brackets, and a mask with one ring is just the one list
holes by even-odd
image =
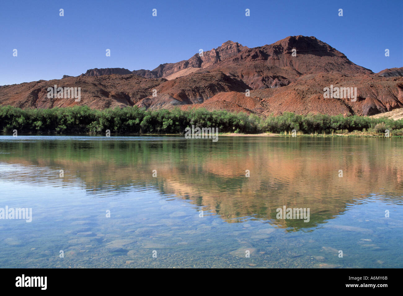
[[0, 267], [401, 268], [401, 141], [1, 136]]

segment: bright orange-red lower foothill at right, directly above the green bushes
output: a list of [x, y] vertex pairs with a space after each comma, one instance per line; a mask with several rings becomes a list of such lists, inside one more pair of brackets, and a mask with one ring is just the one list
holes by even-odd
[[[357, 87], [357, 101], [323, 97], [323, 86]], [[228, 110], [254, 114], [278, 115], [324, 113], [343, 115], [373, 115], [403, 107], [403, 77], [381, 78], [373, 75], [333, 75], [319, 73], [303, 75], [297, 81], [280, 88], [244, 93], [218, 93], [208, 101], [187, 108]]]

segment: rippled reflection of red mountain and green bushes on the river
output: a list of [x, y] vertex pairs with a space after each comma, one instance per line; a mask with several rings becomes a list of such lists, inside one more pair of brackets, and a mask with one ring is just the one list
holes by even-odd
[[[16, 170], [23, 165], [12, 180], [33, 186], [60, 184], [58, 172], [64, 170], [62, 186], [82, 186], [91, 195], [158, 188], [227, 222], [263, 219], [289, 230], [317, 226], [369, 194], [400, 192], [401, 201], [403, 192], [399, 139], [87, 139], [1, 142], [0, 161], [16, 164]], [[9, 178], [0, 169], [0, 180]], [[284, 205], [310, 208], [310, 221], [276, 219]]]

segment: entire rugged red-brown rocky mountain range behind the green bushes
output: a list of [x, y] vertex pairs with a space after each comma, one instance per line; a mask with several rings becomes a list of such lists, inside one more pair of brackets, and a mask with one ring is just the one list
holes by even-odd
[[[292, 55], [293, 49], [297, 56]], [[64, 75], [59, 80], [6, 85], [0, 87], [0, 104], [372, 115], [403, 107], [402, 73], [403, 68], [392, 68], [375, 74], [315, 37], [300, 35], [256, 48], [227, 41], [203, 56], [195, 54], [151, 71], [94, 68], [79, 77]], [[81, 87], [81, 101], [48, 99], [47, 88], [55, 84]], [[330, 85], [357, 87], [357, 101], [324, 99], [323, 89]], [[250, 97], [245, 96], [246, 89], [251, 91]]]

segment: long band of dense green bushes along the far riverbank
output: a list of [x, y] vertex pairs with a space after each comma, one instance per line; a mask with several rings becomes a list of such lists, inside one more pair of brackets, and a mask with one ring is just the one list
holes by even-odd
[[53, 109], [0, 107], [0, 131], [11, 133], [72, 134], [183, 134], [186, 127], [218, 127], [220, 133], [257, 134], [270, 132], [291, 135], [382, 135], [389, 130], [403, 135], [403, 120], [367, 116], [298, 115], [285, 112], [279, 116], [259, 117], [223, 110], [145, 110], [134, 107], [92, 110], [87, 106]]

